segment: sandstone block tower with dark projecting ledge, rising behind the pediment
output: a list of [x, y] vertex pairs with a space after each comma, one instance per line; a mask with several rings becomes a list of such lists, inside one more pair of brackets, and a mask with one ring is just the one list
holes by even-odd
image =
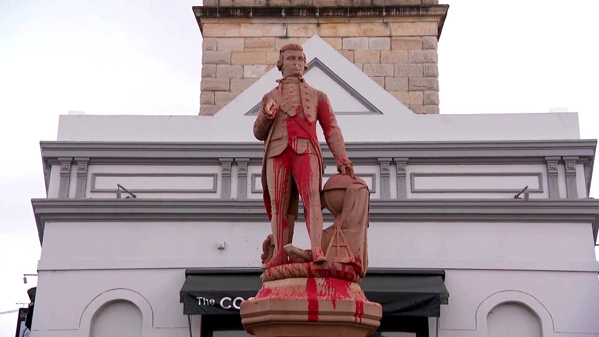
[[[438, 0], [204, 0], [199, 115], [214, 115], [274, 67], [286, 43], [319, 35], [415, 113], [439, 113]], [[259, 100], [259, 98], [257, 98]]]

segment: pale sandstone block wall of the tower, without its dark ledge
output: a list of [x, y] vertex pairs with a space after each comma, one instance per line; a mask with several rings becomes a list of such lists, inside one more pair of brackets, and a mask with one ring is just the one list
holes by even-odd
[[[287, 2], [293, 5], [342, 3], [331, 0]], [[396, 2], [420, 4], [420, 0]], [[205, 0], [205, 5], [252, 4], [264, 4], [264, 1]], [[437, 36], [441, 16], [201, 20], [204, 40], [200, 115], [214, 115], [271, 70], [284, 44], [301, 44], [315, 34], [413, 112], [439, 112]]]

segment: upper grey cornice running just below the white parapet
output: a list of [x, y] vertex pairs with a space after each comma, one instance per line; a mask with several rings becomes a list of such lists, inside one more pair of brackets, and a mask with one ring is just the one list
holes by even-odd
[[[333, 163], [326, 143], [323, 157]], [[190, 142], [40, 142], [44, 163], [58, 158], [87, 157], [90, 164], [214, 164], [219, 158], [249, 158], [261, 163], [264, 145]], [[368, 142], [346, 143], [355, 164], [378, 164], [377, 158], [409, 158], [418, 163], [544, 163], [545, 157], [591, 160], [597, 140], [520, 140], [496, 142]]]

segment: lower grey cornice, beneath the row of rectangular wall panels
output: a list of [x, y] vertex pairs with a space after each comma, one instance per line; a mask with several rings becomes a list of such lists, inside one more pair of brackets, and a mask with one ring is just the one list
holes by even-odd
[[[44, 222], [267, 222], [262, 200], [32, 199], [38, 233]], [[304, 219], [299, 206], [299, 221]], [[332, 215], [325, 213], [325, 221]], [[599, 200], [371, 200], [371, 222], [589, 222], [597, 239]]]

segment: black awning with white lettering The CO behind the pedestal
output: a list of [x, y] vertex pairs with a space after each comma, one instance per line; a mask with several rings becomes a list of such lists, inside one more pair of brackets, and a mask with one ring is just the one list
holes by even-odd
[[[180, 302], [185, 315], [239, 314], [262, 287], [261, 270], [187, 270]], [[443, 270], [368, 269], [361, 287], [383, 315], [439, 317], [449, 294]]]

